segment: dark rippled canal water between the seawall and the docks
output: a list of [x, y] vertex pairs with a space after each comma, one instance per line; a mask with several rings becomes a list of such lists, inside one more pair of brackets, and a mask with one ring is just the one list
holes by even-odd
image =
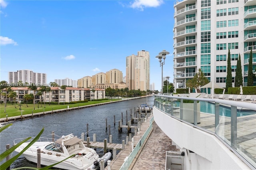
[[[73, 133], [74, 136], [80, 137], [82, 132], [86, 132], [86, 124], [88, 123], [90, 140], [93, 139], [93, 134], [96, 134], [96, 140], [103, 142], [105, 138], [108, 139], [109, 135], [109, 130], [106, 130], [106, 119], [108, 125], [110, 125], [112, 142], [121, 144], [122, 140], [126, 140], [126, 136], [128, 136], [127, 129], [125, 128], [123, 128], [121, 133], [118, 132], [118, 121], [122, 119], [121, 113], [123, 113], [123, 122], [126, 123], [126, 111], [128, 113], [128, 121], [130, 121], [130, 110], [132, 109], [132, 113], [134, 113], [134, 108], [137, 108], [142, 103], [146, 103], [146, 101], [148, 101], [148, 105], [153, 106], [154, 96], [147, 99], [146, 97], [133, 99], [14, 122], [11, 127], [0, 133], [0, 153], [5, 151], [6, 144], [11, 144], [12, 146], [15, 138], [34, 137], [43, 127], [44, 132], [41, 137], [51, 134], [52, 131], [58, 136]], [[114, 115], [116, 117], [116, 126], [114, 126]], [[137, 125], [137, 123], [134, 125]], [[17, 154], [17, 152], [13, 152], [12, 156], [14, 154]], [[99, 152], [99, 154], [103, 153]], [[1, 164], [3, 162], [5, 160]], [[28, 162], [23, 156], [20, 156], [12, 164], [11, 168], [22, 166], [36, 167], [35, 164]]]

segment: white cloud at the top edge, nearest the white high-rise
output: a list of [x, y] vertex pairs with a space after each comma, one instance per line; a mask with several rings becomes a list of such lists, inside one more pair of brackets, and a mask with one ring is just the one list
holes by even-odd
[[135, 0], [130, 2], [131, 8], [138, 8], [139, 10], [143, 11], [144, 8], [147, 7], [158, 7], [163, 4], [163, 0]]

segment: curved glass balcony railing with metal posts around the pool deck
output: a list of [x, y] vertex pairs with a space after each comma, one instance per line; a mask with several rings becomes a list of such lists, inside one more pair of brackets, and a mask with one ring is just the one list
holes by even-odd
[[166, 95], [155, 95], [154, 100], [154, 107], [163, 114], [214, 134], [252, 169], [256, 168], [255, 105], [243, 101]]

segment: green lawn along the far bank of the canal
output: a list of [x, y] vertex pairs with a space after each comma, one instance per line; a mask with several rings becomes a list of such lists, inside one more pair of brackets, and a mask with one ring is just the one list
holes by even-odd
[[[27, 114], [31, 114], [32, 111], [33, 113], [39, 113], [39, 112], [44, 112], [44, 111], [52, 111], [53, 110], [58, 110], [58, 109], [66, 109], [68, 106], [69, 108], [72, 107], [78, 107], [78, 106], [85, 106], [85, 105], [94, 105], [94, 104], [98, 104], [98, 103], [105, 103], [105, 102], [110, 102], [110, 101], [117, 101], [120, 99], [109, 99], [109, 100], [102, 100], [102, 101], [88, 101], [85, 103], [76, 103], [76, 104], [67, 104], [67, 105], [63, 105], [63, 104], [59, 104], [59, 105], [49, 105], [46, 104], [44, 107], [44, 104], [35, 104], [35, 109], [34, 109], [34, 104], [28, 104], [28, 107], [26, 104], [22, 104], [21, 107], [19, 104], [16, 104], [16, 108], [13, 104], [7, 103], [6, 105], [6, 113], [4, 113], [4, 103], [0, 104], [0, 118], [4, 118], [6, 117], [6, 115], [8, 115], [8, 117], [13, 117], [13, 116], [19, 116], [21, 115], [27, 115]], [[21, 110], [20, 110], [21, 109]]]

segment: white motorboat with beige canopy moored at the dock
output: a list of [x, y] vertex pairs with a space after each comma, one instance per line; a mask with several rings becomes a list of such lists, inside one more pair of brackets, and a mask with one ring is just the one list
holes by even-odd
[[[14, 140], [14, 144], [18, 139]], [[19, 139], [20, 140], [20, 139]], [[97, 169], [97, 165], [100, 160], [106, 162], [110, 159], [111, 153], [108, 152], [102, 158], [92, 148], [88, 148], [82, 142], [82, 139], [77, 138], [73, 134], [67, 136], [62, 136], [58, 140], [52, 138], [40, 138], [35, 142], [30, 148], [23, 152], [24, 157], [31, 161], [37, 163], [37, 150], [40, 148], [41, 152], [41, 164], [49, 166], [64, 160], [72, 155], [71, 158], [60, 162], [55, 165], [55, 168], [61, 168], [66, 170], [87, 170], [87, 169]], [[25, 142], [16, 148], [16, 152], [21, 152], [29, 142]]]

